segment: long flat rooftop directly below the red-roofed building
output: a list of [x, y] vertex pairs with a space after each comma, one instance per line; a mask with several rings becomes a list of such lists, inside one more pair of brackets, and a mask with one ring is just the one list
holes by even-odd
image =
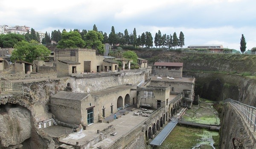
[[161, 78], [162, 79], [157, 79], [157, 77], [151, 77], [151, 81], [195, 83], [195, 78], [193, 77], [173, 77], [174, 80], [167, 78], [167, 76], [162, 76]]

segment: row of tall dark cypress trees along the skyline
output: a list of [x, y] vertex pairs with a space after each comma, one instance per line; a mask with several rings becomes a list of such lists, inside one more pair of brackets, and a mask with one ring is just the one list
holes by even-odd
[[[62, 32], [66, 31], [63, 29]], [[71, 30], [70, 30], [71, 31]], [[86, 29], [83, 29], [81, 32], [79, 29], [74, 29], [73, 32], [78, 32], [81, 35], [81, 39], [86, 41], [86, 34], [87, 32]], [[98, 31], [96, 25], [94, 24], [93, 26], [93, 31], [99, 32], [103, 36], [102, 43], [109, 43], [111, 45], [132, 45], [132, 46], [142, 46], [146, 48], [150, 48], [153, 46], [153, 37], [151, 32], [143, 32], [141, 35], [137, 37], [136, 33], [136, 28], [134, 28], [132, 33], [128, 33], [128, 30], [125, 29], [124, 33], [121, 32], [115, 32], [114, 26], [111, 27], [111, 32], [108, 35], [106, 32]], [[49, 33], [45, 33], [45, 38], [43, 39], [42, 43], [58, 43], [61, 40], [61, 32], [60, 30], [52, 31], [51, 36]], [[172, 47], [183, 47], [184, 46], [184, 34], [183, 32], [180, 32], [180, 37], [179, 39], [177, 38], [176, 32], [172, 35], [166, 35], [163, 34], [161, 35], [161, 32], [158, 31], [155, 36], [154, 40], [155, 46], [162, 46], [162, 47], [167, 47], [167, 48], [172, 48]]]

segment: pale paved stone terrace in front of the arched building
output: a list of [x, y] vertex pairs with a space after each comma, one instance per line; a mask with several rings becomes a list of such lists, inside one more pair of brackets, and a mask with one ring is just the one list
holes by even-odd
[[[113, 120], [110, 123], [99, 123], [99, 122], [93, 123], [92, 125], [87, 126], [86, 130], [82, 131], [82, 134], [80, 134], [80, 132], [74, 132], [70, 135], [67, 135], [66, 138], [59, 140], [59, 142], [70, 144], [70, 145], [76, 145], [77, 143], [79, 143], [79, 145], [81, 146], [88, 144], [86, 146], [91, 146], [90, 148], [92, 149], [97, 149], [97, 147], [99, 146], [110, 146], [116, 141], [116, 139], [122, 137], [123, 135], [131, 131], [135, 126], [137, 126], [139, 123], [143, 122], [147, 118], [147, 117], [133, 115], [133, 113], [137, 112], [138, 109], [136, 109], [134, 112], [131, 112], [132, 108], [134, 107], [127, 107], [125, 109], [122, 109], [116, 112], [117, 117], [121, 116], [116, 120], [113, 120], [114, 114], [110, 115], [109, 117], [105, 117], [105, 120], [104, 120], [105, 122], [108, 120]], [[127, 111], [129, 111], [129, 113], [127, 115], [123, 115], [123, 113]], [[109, 132], [106, 135], [107, 138], [103, 139], [102, 141], [99, 141], [101, 140], [102, 136], [101, 136], [101, 133], [99, 134], [97, 133], [97, 130], [102, 131], [103, 129], [111, 125], [113, 125], [114, 130]], [[57, 126], [50, 126], [50, 127], [52, 127], [50, 131], [49, 130], [45, 131], [49, 135], [51, 135], [52, 132], [58, 131], [59, 129]], [[45, 128], [44, 130], [49, 129], [50, 127]], [[53, 127], [55, 127], [56, 129], [54, 130]], [[70, 129], [72, 130], [72, 128], [69, 128], [69, 130]], [[65, 132], [65, 131], [62, 130], [61, 132]], [[116, 135], [115, 136], [110, 135], [112, 132], [116, 132]], [[65, 133], [63, 133], [62, 135], [64, 134]], [[61, 133], [58, 133], [58, 135], [61, 135]]]

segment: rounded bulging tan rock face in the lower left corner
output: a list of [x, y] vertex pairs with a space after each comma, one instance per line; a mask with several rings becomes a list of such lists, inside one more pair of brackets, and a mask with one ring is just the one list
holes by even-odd
[[18, 105], [1, 105], [1, 146], [22, 146], [21, 143], [31, 137], [30, 121], [31, 116], [28, 109]]

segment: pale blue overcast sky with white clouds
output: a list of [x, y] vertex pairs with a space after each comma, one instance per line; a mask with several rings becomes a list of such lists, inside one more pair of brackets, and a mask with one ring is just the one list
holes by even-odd
[[0, 25], [36, 31], [86, 29], [132, 33], [183, 32], [185, 47], [222, 44], [239, 50], [256, 47], [256, 0], [0, 0]]

